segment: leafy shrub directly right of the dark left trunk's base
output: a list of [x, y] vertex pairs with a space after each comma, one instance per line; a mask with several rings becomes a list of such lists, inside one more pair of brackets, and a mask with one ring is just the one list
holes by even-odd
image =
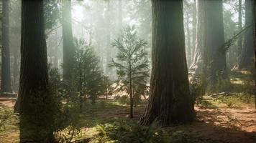
[[81, 135], [78, 97], [76, 94], [70, 95], [72, 88], [67, 88], [60, 79], [58, 68], [49, 70], [49, 79], [52, 102], [55, 104], [50, 110], [54, 113], [54, 137], [56, 142], [71, 142]]

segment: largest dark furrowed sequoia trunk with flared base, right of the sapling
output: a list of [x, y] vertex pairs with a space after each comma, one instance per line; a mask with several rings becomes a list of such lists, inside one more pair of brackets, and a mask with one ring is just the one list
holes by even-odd
[[188, 90], [182, 0], [152, 0], [152, 75], [141, 124], [192, 122]]

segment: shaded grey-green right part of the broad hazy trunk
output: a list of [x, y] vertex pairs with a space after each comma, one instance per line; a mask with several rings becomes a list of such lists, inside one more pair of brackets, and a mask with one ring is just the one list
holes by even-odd
[[206, 0], [205, 47], [209, 89], [228, 79], [226, 51], [224, 50], [224, 24], [222, 0]]

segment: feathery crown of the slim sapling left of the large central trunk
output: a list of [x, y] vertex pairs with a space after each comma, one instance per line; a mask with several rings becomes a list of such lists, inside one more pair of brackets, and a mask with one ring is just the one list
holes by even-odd
[[116, 68], [117, 83], [121, 83], [118, 85], [119, 90], [129, 93], [129, 84], [132, 84], [132, 98], [139, 102], [140, 96], [147, 91], [149, 77], [150, 66], [145, 51], [147, 42], [138, 39], [134, 26], [127, 26], [112, 46], [118, 49], [118, 54], [109, 66]]

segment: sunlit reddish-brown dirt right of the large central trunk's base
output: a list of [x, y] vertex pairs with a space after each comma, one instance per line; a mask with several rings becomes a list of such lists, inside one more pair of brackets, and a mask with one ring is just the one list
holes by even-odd
[[174, 129], [199, 132], [203, 139], [229, 143], [256, 142], [256, 114], [254, 109], [196, 108], [201, 122]]

